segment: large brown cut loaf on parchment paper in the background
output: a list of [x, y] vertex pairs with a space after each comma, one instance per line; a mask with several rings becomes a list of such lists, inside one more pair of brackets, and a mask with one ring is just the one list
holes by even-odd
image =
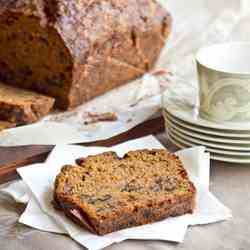
[[0, 0], [0, 80], [71, 108], [151, 69], [170, 27], [155, 0]]

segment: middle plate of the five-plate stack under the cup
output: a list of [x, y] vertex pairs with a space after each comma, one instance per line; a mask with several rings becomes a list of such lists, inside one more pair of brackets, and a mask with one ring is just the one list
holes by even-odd
[[211, 142], [227, 143], [227, 144], [229, 143], [229, 144], [250, 145], [250, 138], [249, 139], [243, 139], [243, 138], [242, 139], [230, 139], [230, 138], [225, 138], [225, 137], [220, 137], [220, 136], [206, 135], [206, 134], [193, 132], [191, 130], [183, 128], [168, 118], [166, 118], [165, 121], [166, 121], [168, 126], [171, 126], [176, 131], [178, 131], [184, 135], [197, 138], [197, 139], [202, 139], [202, 140], [211, 141]]

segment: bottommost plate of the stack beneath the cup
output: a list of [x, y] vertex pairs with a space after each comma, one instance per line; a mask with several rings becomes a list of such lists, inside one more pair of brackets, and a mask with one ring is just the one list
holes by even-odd
[[[185, 141], [182, 141], [178, 137], [174, 136], [173, 134], [169, 133], [169, 140], [176, 145], [179, 148], [187, 148], [187, 147], [192, 147], [192, 146], [197, 146], [195, 144], [193, 145], [188, 145]], [[207, 150], [209, 152], [209, 150]], [[225, 156], [223, 154], [215, 154], [210, 152], [210, 158], [213, 160], [217, 161], [222, 161], [222, 162], [228, 162], [228, 163], [239, 163], [239, 164], [250, 164], [250, 158], [245, 159], [241, 157], [236, 157], [236, 156]]]

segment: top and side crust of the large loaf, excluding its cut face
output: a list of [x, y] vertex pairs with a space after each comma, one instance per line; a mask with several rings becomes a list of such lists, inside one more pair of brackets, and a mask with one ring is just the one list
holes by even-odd
[[[172, 23], [155, 0], [0, 0], [4, 11], [34, 15], [60, 34], [73, 62], [62, 107], [81, 104], [151, 69]], [[102, 68], [102, 81], [96, 67]]]

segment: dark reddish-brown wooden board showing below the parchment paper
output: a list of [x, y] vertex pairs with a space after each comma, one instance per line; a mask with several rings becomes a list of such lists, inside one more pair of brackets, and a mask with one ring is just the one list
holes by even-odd
[[[164, 131], [162, 117], [146, 121], [135, 128], [108, 140], [82, 143], [83, 146], [113, 146], [131, 139]], [[43, 162], [53, 149], [53, 145], [30, 145], [0, 147], [0, 184], [19, 178], [16, 169], [21, 166]]]

